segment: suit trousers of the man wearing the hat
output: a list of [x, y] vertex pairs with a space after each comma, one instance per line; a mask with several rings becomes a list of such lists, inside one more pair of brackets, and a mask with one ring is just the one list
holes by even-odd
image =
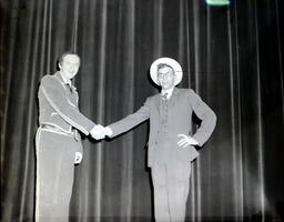
[[183, 222], [190, 190], [191, 164], [162, 163], [152, 167], [156, 222]]

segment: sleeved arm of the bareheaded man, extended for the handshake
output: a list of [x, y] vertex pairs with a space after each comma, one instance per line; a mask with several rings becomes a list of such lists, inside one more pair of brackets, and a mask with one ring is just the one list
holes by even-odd
[[57, 79], [47, 75], [42, 79], [40, 89], [49, 104], [73, 128], [88, 135], [95, 127], [94, 122], [85, 118], [78, 107], [68, 100], [63, 85]]

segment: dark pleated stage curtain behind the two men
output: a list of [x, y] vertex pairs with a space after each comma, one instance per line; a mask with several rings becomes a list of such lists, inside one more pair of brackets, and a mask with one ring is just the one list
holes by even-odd
[[[1, 220], [32, 221], [37, 90], [64, 50], [82, 59], [80, 109], [109, 124], [158, 89], [149, 67], [176, 59], [217, 127], [193, 163], [189, 221], [280, 220], [284, 204], [283, 1], [1, 0]], [[151, 221], [148, 123], [84, 138], [72, 221]]]

